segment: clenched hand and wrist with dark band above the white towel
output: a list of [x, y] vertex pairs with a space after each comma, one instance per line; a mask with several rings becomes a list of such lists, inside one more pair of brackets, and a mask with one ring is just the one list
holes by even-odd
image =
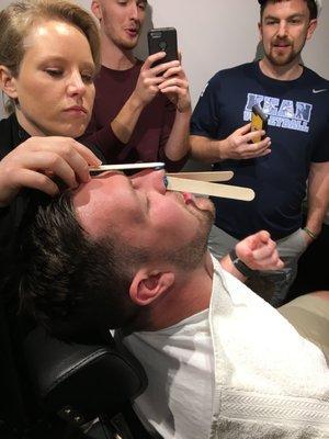
[[[284, 266], [279, 257], [275, 241], [265, 230], [242, 239], [236, 245], [235, 250], [239, 260], [250, 270], [280, 270]], [[241, 282], [247, 280], [247, 275], [235, 267], [229, 255], [220, 260], [220, 266]]]

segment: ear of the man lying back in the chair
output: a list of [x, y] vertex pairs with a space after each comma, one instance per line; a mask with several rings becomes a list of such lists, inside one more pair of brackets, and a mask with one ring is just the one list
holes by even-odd
[[174, 273], [155, 272], [139, 269], [135, 274], [129, 294], [134, 303], [139, 306], [149, 305], [161, 294], [166, 293], [174, 282]]

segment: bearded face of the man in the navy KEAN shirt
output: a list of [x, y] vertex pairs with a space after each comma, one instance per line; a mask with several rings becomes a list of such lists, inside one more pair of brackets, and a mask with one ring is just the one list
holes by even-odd
[[274, 66], [288, 66], [299, 61], [306, 40], [310, 38], [316, 20], [309, 21], [309, 10], [304, 0], [269, 2], [259, 24], [265, 57]]

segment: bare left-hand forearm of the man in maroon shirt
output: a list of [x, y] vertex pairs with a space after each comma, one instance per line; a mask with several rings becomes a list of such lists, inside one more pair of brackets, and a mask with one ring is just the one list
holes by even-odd
[[111, 122], [111, 128], [115, 136], [127, 144], [136, 127], [144, 104], [135, 97], [135, 93], [126, 101], [116, 117]]

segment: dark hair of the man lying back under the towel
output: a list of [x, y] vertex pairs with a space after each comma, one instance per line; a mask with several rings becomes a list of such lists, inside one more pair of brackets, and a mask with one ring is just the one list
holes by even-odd
[[[39, 205], [22, 244], [22, 308], [65, 340], [94, 342], [137, 312], [128, 294], [134, 261], [145, 255], [116, 237], [92, 240], [77, 221], [70, 193]], [[123, 262], [124, 261], [124, 262]]]

